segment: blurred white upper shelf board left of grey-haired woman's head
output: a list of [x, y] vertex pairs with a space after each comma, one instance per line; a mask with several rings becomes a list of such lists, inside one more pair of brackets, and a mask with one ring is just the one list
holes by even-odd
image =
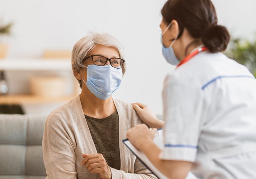
[[70, 59], [0, 59], [0, 70], [72, 71]]

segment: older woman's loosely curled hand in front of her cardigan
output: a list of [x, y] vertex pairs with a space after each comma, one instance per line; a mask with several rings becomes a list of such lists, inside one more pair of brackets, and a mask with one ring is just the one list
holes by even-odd
[[85, 165], [90, 173], [99, 173], [102, 179], [111, 179], [111, 168], [101, 153], [82, 154], [82, 156], [84, 159], [81, 165]]

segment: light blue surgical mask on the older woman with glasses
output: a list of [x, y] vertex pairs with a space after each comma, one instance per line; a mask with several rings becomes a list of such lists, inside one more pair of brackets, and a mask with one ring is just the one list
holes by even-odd
[[99, 99], [108, 99], [119, 88], [121, 81], [122, 68], [114, 68], [111, 65], [87, 66], [87, 82], [84, 83]]

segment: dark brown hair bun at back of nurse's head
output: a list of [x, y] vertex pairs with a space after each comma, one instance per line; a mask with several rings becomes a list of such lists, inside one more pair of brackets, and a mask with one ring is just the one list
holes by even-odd
[[230, 34], [226, 27], [212, 24], [202, 34], [202, 42], [212, 53], [224, 51], [230, 41]]

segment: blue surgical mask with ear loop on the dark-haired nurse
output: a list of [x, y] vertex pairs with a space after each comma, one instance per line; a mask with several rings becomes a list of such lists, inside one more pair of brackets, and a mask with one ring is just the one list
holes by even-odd
[[177, 40], [177, 37], [172, 41], [171, 45], [169, 47], [165, 47], [163, 45], [163, 34], [166, 33], [166, 31], [170, 28], [170, 26], [172, 25], [172, 23], [170, 23], [166, 29], [163, 31], [163, 33], [161, 34], [161, 43], [162, 43], [162, 54], [163, 57], [165, 58], [165, 60], [170, 63], [171, 65], [178, 65], [180, 63], [180, 61], [177, 59], [177, 57], [175, 56], [175, 53], [173, 51], [172, 45], [175, 43], [175, 41]]

